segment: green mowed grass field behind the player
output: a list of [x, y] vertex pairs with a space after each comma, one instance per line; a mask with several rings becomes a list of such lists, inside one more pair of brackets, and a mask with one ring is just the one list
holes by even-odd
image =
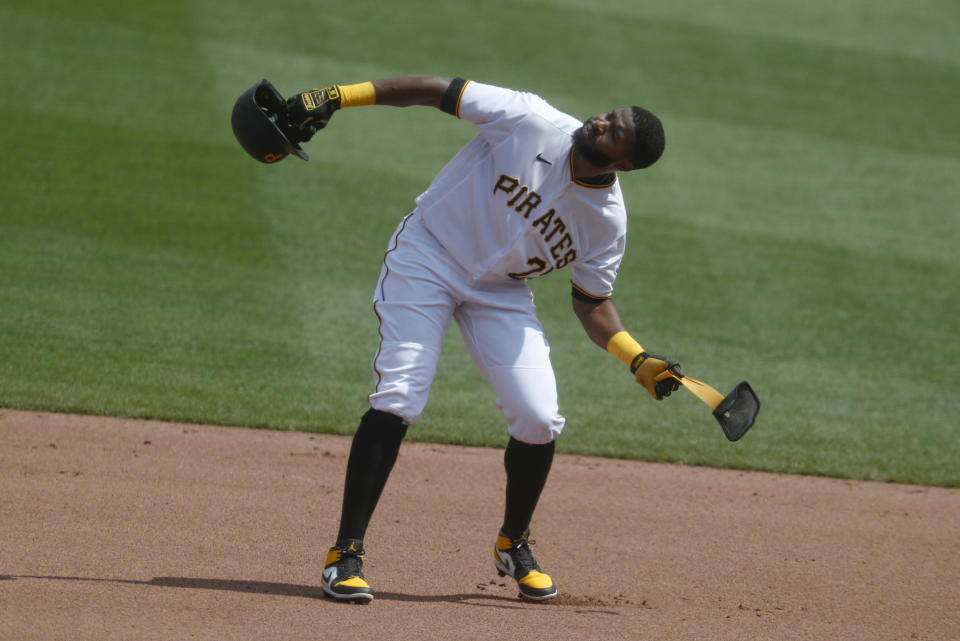
[[[553, 274], [562, 451], [960, 486], [960, 7], [801, 4], [8, 0], [0, 407], [352, 433], [386, 241], [473, 127], [351, 109], [265, 166], [230, 109], [262, 77], [437, 73], [663, 118], [663, 161], [622, 177], [614, 300], [763, 403], [736, 444], [653, 403]], [[455, 327], [410, 438], [505, 442]]]

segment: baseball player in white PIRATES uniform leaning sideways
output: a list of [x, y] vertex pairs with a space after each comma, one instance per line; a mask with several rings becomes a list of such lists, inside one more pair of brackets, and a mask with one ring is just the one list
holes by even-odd
[[656, 162], [663, 128], [640, 107], [581, 123], [530, 93], [403, 76], [293, 96], [286, 102], [290, 138], [299, 150], [336, 110], [364, 105], [435, 107], [473, 123], [477, 135], [416, 199], [388, 243], [373, 296], [380, 326], [374, 391], [353, 438], [323, 591], [345, 601], [373, 599], [362, 572], [364, 535], [407, 428], [427, 403], [453, 319], [496, 392], [510, 436], [494, 565], [517, 581], [521, 598], [551, 599], [557, 587], [534, 558], [529, 528], [564, 418], [526, 281], [569, 270], [573, 310], [587, 335], [654, 399], [677, 388], [671, 371], [679, 374], [678, 365], [648, 354], [610, 300], [627, 224], [617, 172]]

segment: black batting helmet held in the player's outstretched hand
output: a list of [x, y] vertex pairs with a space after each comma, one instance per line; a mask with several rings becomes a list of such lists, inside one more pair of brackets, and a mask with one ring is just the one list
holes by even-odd
[[266, 78], [240, 94], [233, 103], [230, 124], [240, 146], [260, 162], [274, 163], [290, 154], [310, 159], [288, 137], [283, 96]]

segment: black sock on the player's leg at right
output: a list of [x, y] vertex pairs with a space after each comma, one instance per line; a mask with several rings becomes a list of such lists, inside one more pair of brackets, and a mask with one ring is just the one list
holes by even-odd
[[530, 527], [540, 492], [547, 483], [556, 441], [530, 445], [510, 437], [503, 453], [507, 470], [507, 504], [503, 515], [503, 534], [519, 538]]

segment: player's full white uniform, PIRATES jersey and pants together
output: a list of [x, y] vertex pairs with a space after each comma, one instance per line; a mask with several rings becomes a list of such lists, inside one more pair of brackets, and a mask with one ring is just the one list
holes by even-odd
[[524, 281], [570, 268], [578, 296], [609, 297], [626, 233], [620, 186], [613, 175], [604, 185], [573, 179], [581, 123], [537, 96], [469, 82], [456, 113], [480, 133], [390, 239], [374, 293], [380, 345], [370, 406], [417, 421], [454, 319], [510, 434], [546, 443], [565, 420]]

